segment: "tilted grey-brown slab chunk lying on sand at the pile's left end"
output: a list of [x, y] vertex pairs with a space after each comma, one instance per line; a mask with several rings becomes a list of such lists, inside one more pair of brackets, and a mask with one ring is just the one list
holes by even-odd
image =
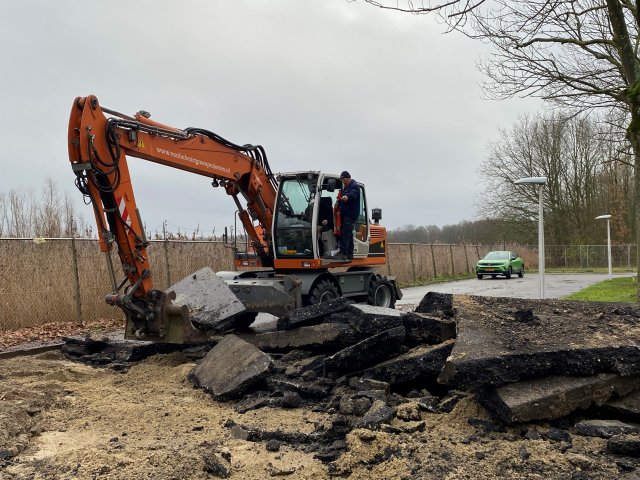
[[218, 400], [237, 398], [263, 380], [271, 357], [235, 335], [225, 336], [189, 374], [189, 380]]

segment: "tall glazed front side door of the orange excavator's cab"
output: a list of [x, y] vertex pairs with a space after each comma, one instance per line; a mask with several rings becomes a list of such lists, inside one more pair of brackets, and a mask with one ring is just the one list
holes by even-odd
[[313, 203], [317, 176], [296, 175], [280, 183], [275, 244], [280, 258], [313, 258]]

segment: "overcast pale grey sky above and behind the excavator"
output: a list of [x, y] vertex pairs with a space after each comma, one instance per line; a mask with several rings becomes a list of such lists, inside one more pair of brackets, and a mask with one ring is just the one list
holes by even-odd
[[[347, 169], [388, 228], [471, 220], [498, 128], [538, 103], [481, 98], [488, 47], [435, 18], [346, 0], [21, 0], [0, 16], [0, 191], [73, 186], [67, 123], [95, 94], [261, 144], [276, 172]], [[233, 223], [210, 180], [129, 159], [142, 218], [175, 231]]]

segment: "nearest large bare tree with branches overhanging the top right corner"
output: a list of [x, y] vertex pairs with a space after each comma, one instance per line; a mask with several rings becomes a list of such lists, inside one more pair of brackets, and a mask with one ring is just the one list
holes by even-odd
[[[416, 8], [411, 0], [407, 8], [403, 3], [389, 2], [386, 8], [411, 13], [434, 10]], [[540, 96], [579, 111], [605, 108], [620, 113], [635, 167], [634, 216], [635, 225], [640, 226], [639, 4], [631, 0], [494, 0], [439, 5], [436, 10], [452, 29], [495, 47], [481, 65], [489, 95]], [[636, 228], [636, 243], [640, 247], [640, 228]], [[640, 270], [640, 255], [637, 258]]]

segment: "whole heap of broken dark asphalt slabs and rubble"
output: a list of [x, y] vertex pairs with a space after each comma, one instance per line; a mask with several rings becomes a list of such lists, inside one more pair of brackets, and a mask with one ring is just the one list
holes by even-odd
[[[233, 436], [270, 450], [286, 443], [332, 462], [352, 429], [423, 431], [421, 411], [450, 412], [475, 396], [492, 419], [469, 422], [486, 431], [555, 421], [563, 428], [549, 435], [558, 441], [571, 430], [609, 438], [611, 454], [640, 456], [640, 308], [430, 292], [414, 312], [401, 312], [339, 298], [289, 312], [276, 331], [236, 331], [212, 343], [185, 352], [201, 357], [189, 379], [216, 400], [235, 402], [239, 413], [304, 407], [332, 415], [312, 433], [227, 421]], [[65, 351], [124, 368], [155, 353], [144, 348], [162, 347], [141, 348], [126, 358], [86, 341]]]

